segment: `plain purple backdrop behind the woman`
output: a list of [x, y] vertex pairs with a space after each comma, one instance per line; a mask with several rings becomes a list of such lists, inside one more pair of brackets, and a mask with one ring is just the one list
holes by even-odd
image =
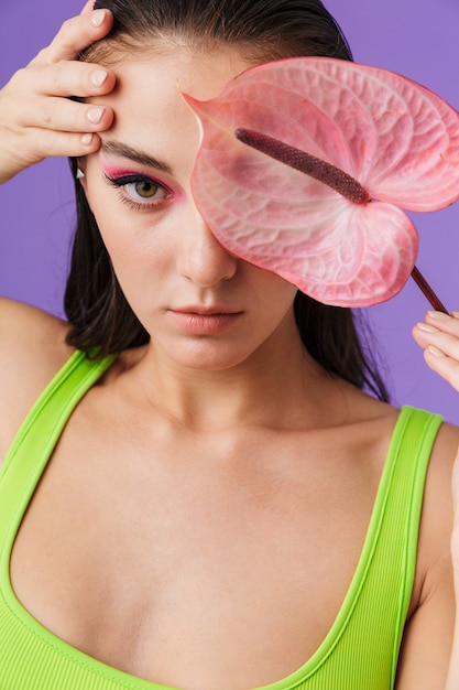
[[[76, 0], [1, 0], [0, 85], [46, 45]], [[394, 69], [459, 108], [458, 0], [326, 0], [358, 62]], [[74, 222], [67, 161], [47, 160], [0, 187], [0, 293], [62, 315]], [[414, 215], [417, 266], [450, 310], [459, 310], [459, 204]], [[390, 302], [368, 310], [381, 344], [394, 402], [442, 413], [459, 423], [456, 393], [424, 364], [411, 328], [429, 308], [411, 280]]]

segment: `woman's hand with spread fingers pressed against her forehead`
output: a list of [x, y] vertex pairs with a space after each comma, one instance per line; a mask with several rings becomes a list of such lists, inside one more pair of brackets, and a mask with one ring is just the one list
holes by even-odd
[[[110, 127], [113, 114], [97, 97], [113, 89], [116, 77], [78, 56], [109, 33], [112, 14], [91, 6], [67, 20], [0, 90], [0, 183], [50, 155], [83, 157], [100, 147], [98, 132]], [[96, 101], [81, 103], [87, 98]]]

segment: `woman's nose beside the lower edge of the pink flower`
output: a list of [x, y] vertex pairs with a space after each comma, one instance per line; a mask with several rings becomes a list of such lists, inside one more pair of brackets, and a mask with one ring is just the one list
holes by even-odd
[[177, 270], [195, 284], [211, 288], [234, 276], [238, 259], [220, 245], [196, 208], [187, 214], [178, 244]]

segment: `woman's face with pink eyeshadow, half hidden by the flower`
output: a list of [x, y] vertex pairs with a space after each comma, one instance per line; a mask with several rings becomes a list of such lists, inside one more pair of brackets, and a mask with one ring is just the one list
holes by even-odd
[[[190, 177], [199, 142], [179, 89], [216, 96], [250, 66], [234, 51], [166, 48], [116, 68], [116, 114], [83, 180], [121, 288], [156, 352], [228, 368], [296, 334], [296, 288], [226, 251], [200, 217]], [[297, 335], [296, 335], [297, 337]]]

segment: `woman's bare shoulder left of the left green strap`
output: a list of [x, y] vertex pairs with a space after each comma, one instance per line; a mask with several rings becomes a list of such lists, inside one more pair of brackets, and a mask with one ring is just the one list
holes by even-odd
[[0, 464], [31, 406], [72, 354], [67, 324], [0, 298]]

